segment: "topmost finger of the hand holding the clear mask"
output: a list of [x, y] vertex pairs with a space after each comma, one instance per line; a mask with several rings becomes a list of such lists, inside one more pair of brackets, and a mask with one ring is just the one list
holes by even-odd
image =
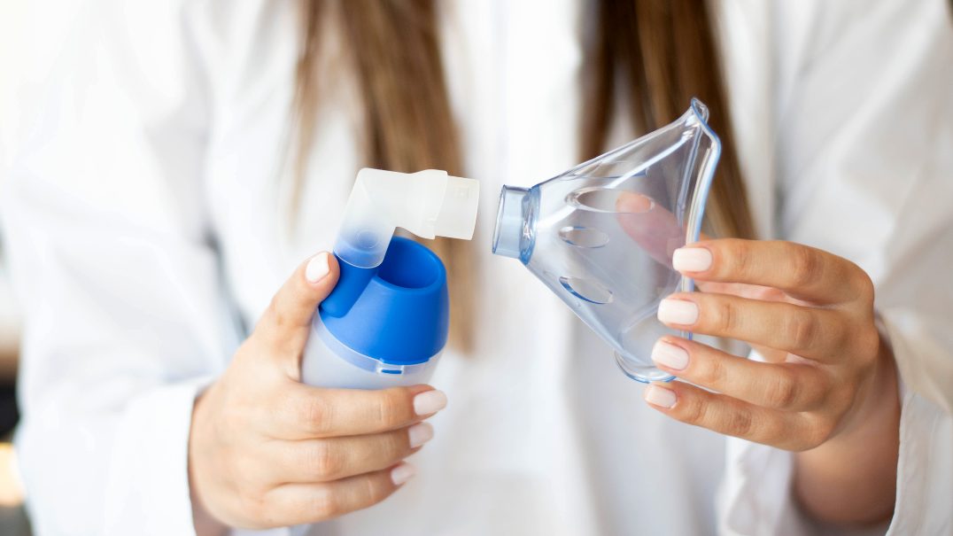
[[691, 278], [775, 287], [814, 303], [873, 297], [870, 278], [853, 262], [782, 240], [696, 242], [680, 248], [673, 265]]

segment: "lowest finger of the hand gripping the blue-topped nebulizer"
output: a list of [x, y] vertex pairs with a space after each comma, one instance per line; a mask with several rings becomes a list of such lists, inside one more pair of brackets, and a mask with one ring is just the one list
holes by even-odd
[[262, 515], [271, 526], [328, 521], [380, 503], [415, 472], [404, 463], [330, 483], [279, 485], [266, 495]]

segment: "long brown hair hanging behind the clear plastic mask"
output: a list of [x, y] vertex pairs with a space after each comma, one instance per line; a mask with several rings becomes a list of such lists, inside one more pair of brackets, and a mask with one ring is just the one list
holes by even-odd
[[598, 11], [586, 47], [583, 159], [608, 149], [618, 87], [642, 134], [675, 121], [698, 97], [722, 143], [706, 223], [721, 237], [754, 238], [707, 2], [598, 0]]

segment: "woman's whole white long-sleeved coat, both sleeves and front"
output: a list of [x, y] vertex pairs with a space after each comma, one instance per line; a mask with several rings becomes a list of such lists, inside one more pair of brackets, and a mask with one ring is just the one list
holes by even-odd
[[[760, 236], [849, 258], [877, 285], [905, 384], [889, 534], [949, 534], [946, 3], [718, 5]], [[416, 478], [311, 533], [811, 533], [791, 497], [790, 453], [725, 448], [650, 409], [607, 345], [517, 261], [490, 255], [500, 185], [577, 163], [578, 1], [441, 6], [466, 172], [482, 182], [477, 350], [437, 370], [450, 405], [414, 457]], [[192, 534], [193, 398], [294, 266], [331, 248], [359, 166], [357, 93], [347, 76], [326, 78], [290, 221], [294, 1], [63, 10], [75, 23], [44, 106], [22, 124], [3, 196], [27, 315], [16, 442], [30, 513], [41, 536]]]

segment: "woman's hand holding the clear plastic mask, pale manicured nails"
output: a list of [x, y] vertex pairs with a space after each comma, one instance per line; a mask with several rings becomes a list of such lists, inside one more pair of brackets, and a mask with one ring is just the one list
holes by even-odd
[[800, 452], [797, 493], [822, 520], [888, 518], [900, 405], [870, 278], [848, 260], [783, 241], [701, 241], [679, 249], [674, 266], [704, 292], [663, 300], [659, 320], [747, 341], [767, 362], [662, 337], [656, 364], [711, 391], [653, 383], [645, 400], [683, 423]]

